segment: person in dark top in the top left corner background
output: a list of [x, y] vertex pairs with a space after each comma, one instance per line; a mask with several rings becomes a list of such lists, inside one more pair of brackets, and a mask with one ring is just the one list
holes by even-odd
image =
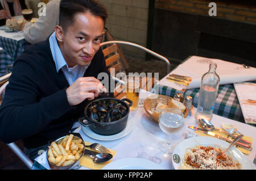
[[6, 19], [22, 15], [23, 9], [27, 9], [25, 0], [0, 0], [0, 26], [5, 25]]

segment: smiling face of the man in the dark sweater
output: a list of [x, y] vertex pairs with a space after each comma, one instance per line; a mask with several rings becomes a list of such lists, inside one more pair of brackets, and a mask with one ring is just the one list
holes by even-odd
[[89, 65], [100, 48], [104, 22], [90, 12], [79, 13], [63, 33], [61, 52], [69, 67]]

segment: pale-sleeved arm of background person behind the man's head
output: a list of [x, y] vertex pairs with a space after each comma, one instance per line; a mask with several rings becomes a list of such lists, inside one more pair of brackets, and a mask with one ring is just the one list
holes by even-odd
[[46, 4], [46, 16], [39, 16], [35, 23], [28, 22], [23, 27], [25, 40], [31, 44], [44, 41], [59, 24], [60, 0], [52, 0]]

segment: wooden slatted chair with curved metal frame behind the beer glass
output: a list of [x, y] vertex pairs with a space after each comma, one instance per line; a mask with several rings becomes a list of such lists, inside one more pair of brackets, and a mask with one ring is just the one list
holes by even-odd
[[[123, 72], [126, 73], [125, 69], [123, 68], [124, 66], [122, 65], [122, 62], [120, 61], [120, 54], [118, 52], [118, 45], [117, 44], [126, 44], [126, 45], [131, 45], [133, 47], [137, 47], [139, 49], [142, 49], [144, 51], [146, 51], [147, 53], [152, 54], [153, 56], [160, 58], [160, 60], [163, 60], [166, 62], [167, 64], [167, 73], [170, 73], [170, 62], [166, 57], [161, 56], [160, 54], [157, 54], [147, 48], [142, 47], [141, 45], [135, 44], [135, 43], [130, 43], [127, 41], [105, 41], [104, 43], [101, 43], [101, 47], [103, 47], [102, 52], [104, 53], [105, 56], [105, 60], [106, 60], [106, 66], [108, 66], [109, 71], [111, 69], [114, 69], [114, 76], [118, 73], [118, 72]], [[106, 45], [109, 45], [108, 47], [106, 47]], [[112, 73], [110, 71], [110, 73]], [[113, 74], [112, 74], [113, 76]], [[123, 81], [119, 80], [118, 78], [112, 77], [115, 79], [115, 81], [117, 82], [121, 82], [123, 85]], [[141, 84], [141, 89], [150, 91], [150, 89], [152, 87], [154, 87], [155, 83], [156, 83], [156, 79], [153, 77], [142, 77], [142, 84]], [[117, 91], [117, 90], [123, 90], [124, 87], [120, 85], [118, 87], [115, 88], [115, 92], [114, 92], [114, 97], [115, 98], [122, 98], [125, 94], [121, 91]]]

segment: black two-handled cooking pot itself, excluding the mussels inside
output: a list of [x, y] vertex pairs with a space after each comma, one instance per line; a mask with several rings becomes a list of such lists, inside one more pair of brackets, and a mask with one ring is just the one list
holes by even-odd
[[[112, 121], [110, 123], [101, 123], [98, 121], [94, 121], [90, 119], [88, 116], [88, 108], [94, 105], [95, 102], [101, 101], [101, 100], [108, 100], [108, 99], [113, 99], [117, 100], [118, 103], [121, 103], [123, 106], [127, 108], [126, 114], [119, 120], [117, 121]], [[129, 104], [127, 104], [128, 102]], [[115, 99], [115, 98], [101, 98], [101, 99], [96, 99], [90, 102], [84, 110], [84, 117], [81, 117], [79, 119], [79, 123], [84, 126], [84, 127], [89, 127], [93, 132], [97, 134], [102, 134], [102, 135], [111, 135], [111, 134], [116, 134], [118, 132], [121, 132], [123, 129], [125, 129], [129, 112], [130, 112], [130, 106], [133, 105], [133, 102], [130, 99]]]

